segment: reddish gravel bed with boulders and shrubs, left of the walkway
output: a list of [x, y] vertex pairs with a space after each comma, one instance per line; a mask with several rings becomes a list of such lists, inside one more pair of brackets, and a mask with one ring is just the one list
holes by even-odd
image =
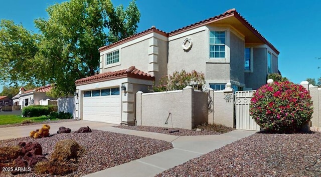
[[[78, 159], [77, 171], [74, 171], [68, 176], [82, 176], [173, 148], [173, 145], [170, 142], [163, 140], [101, 130], [92, 130], [91, 133], [53, 134], [50, 137], [39, 139], [22, 137], [0, 140], [0, 147], [17, 145], [20, 141], [38, 142], [42, 146], [43, 154], [47, 154], [46, 157], [49, 158], [54, 150], [55, 143], [63, 139], [74, 139], [85, 147], [85, 152]], [[0, 176], [11, 176], [11, 173], [0, 171]], [[32, 171], [30, 173], [18, 174], [15, 176], [51, 175], [40, 175]]]

